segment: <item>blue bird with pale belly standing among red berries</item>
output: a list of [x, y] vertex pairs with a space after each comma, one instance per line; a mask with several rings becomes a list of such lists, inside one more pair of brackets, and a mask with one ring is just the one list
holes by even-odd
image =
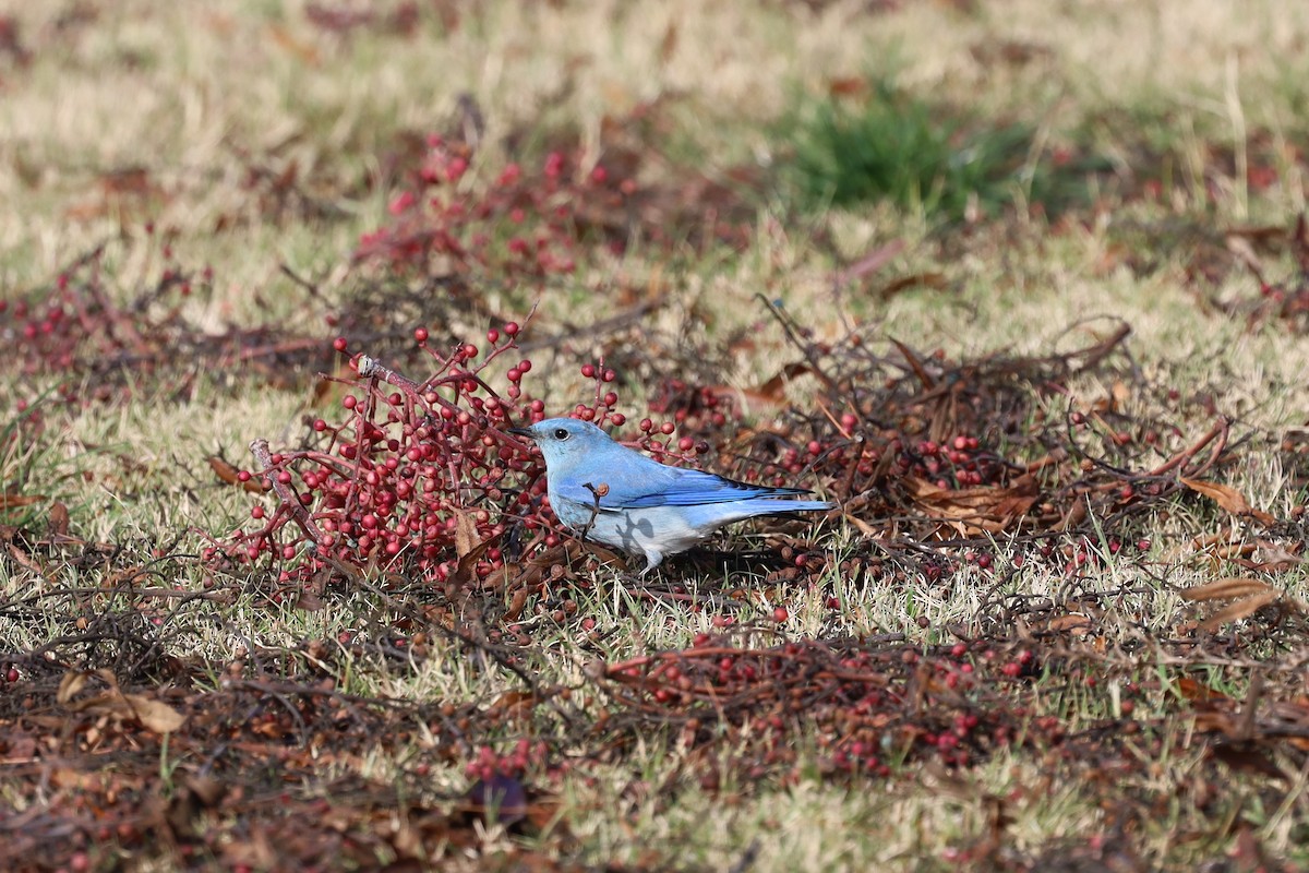
[[809, 493], [801, 488], [751, 486], [665, 466], [577, 419], [547, 419], [509, 433], [541, 446], [550, 505], [559, 521], [588, 539], [645, 555], [643, 576], [665, 555], [685, 551], [733, 521], [835, 507], [825, 500], [784, 500]]

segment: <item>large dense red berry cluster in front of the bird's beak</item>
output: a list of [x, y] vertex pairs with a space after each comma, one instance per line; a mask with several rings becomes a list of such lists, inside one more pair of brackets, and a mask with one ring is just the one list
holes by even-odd
[[[545, 404], [522, 395], [528, 359], [508, 366], [503, 394], [486, 381], [487, 368], [517, 349], [518, 331], [511, 322], [488, 331], [486, 351], [462, 343], [437, 353], [418, 329], [415, 340], [436, 365], [423, 382], [355, 355], [359, 378], [344, 381], [344, 420], [315, 419], [312, 445], [268, 453], [266, 469], [238, 474], [262, 476], [279, 503], [257, 504], [259, 526], [207, 556], [267, 556], [285, 565], [284, 581], [331, 561], [378, 559], [444, 581], [461, 568], [471, 580], [501, 567], [511, 526], [528, 534], [520, 547], [530, 547], [552, 527], [541, 514], [545, 479], [508, 429], [545, 419]], [[348, 352], [344, 339], [335, 347]]]

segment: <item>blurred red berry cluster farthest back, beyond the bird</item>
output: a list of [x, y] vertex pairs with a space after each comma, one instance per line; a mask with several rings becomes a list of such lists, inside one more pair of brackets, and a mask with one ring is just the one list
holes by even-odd
[[[581, 171], [581, 156], [551, 152], [539, 168], [509, 164], [490, 185], [470, 178], [466, 147], [428, 140], [412, 181], [390, 203], [391, 224], [364, 234], [356, 262], [387, 268], [505, 281], [569, 274], [576, 267], [584, 207], [597, 199], [620, 205], [635, 186], [602, 166]], [[610, 246], [622, 250], [623, 237]]]

